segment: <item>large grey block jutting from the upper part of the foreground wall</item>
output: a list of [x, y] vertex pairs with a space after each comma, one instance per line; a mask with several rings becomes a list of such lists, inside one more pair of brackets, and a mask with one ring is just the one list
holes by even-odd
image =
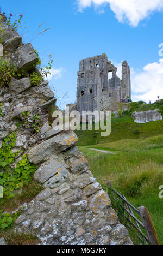
[[38, 61], [38, 57], [30, 43], [18, 47], [12, 55], [12, 62], [15, 63], [17, 69], [30, 70], [33, 69]]

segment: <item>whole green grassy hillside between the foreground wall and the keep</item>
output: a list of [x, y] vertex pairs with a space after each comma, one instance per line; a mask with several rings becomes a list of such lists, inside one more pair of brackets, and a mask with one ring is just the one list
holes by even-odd
[[[136, 207], [145, 205], [151, 213], [159, 241], [163, 245], [163, 199], [158, 187], [163, 184], [163, 121], [134, 123], [129, 115], [112, 118], [111, 135], [100, 131], [77, 131], [78, 146], [89, 161], [97, 180], [112, 186]], [[87, 146], [86, 146], [87, 145]], [[106, 154], [83, 148], [116, 152]]]

